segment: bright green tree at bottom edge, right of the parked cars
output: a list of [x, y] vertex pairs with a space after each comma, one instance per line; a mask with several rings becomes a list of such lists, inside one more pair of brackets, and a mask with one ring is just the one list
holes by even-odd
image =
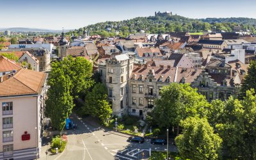
[[189, 117], [182, 120], [183, 132], [175, 138], [182, 157], [197, 159], [218, 159], [221, 138], [214, 134], [206, 118]]

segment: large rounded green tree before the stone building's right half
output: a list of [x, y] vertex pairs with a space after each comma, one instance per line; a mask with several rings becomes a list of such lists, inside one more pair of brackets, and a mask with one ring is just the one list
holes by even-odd
[[161, 98], [156, 99], [156, 107], [152, 111], [157, 125], [161, 128], [177, 126], [179, 134], [180, 120], [189, 116], [205, 117], [209, 103], [204, 95], [196, 92], [189, 84], [171, 83], [161, 89]]

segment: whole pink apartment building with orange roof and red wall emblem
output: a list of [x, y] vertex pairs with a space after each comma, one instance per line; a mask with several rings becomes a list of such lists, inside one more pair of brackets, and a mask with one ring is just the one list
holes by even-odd
[[6, 66], [0, 74], [0, 159], [36, 159], [40, 157], [47, 74], [10, 68], [11, 63]]

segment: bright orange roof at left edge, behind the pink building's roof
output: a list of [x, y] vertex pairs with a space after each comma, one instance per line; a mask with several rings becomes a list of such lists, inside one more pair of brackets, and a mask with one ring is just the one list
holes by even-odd
[[21, 67], [17, 63], [9, 60], [4, 56], [0, 56], [0, 72], [8, 72], [13, 70], [20, 70]]

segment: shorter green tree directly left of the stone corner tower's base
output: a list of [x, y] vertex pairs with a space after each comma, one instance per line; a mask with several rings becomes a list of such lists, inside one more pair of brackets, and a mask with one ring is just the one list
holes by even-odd
[[104, 84], [97, 83], [85, 97], [83, 112], [98, 117], [102, 123], [106, 123], [112, 114], [108, 104], [108, 90]]

